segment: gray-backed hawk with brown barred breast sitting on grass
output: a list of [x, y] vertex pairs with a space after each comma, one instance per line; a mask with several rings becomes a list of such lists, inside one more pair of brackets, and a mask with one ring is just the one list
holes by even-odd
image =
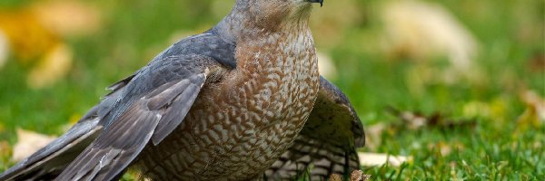
[[360, 168], [362, 122], [318, 72], [323, 0], [236, 0], [213, 28], [115, 82], [0, 180], [326, 180]]

